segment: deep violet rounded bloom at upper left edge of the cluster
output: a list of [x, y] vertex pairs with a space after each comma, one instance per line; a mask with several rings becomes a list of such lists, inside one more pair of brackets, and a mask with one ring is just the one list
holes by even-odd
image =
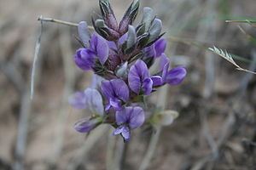
[[74, 55], [74, 61], [80, 69], [88, 71], [94, 65], [96, 55], [87, 48], [79, 48]]

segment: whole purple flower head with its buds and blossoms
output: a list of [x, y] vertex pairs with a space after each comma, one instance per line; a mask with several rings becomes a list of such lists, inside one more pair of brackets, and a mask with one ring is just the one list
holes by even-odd
[[[114, 135], [129, 141], [132, 129], [150, 119], [144, 98], [166, 84], [181, 83], [186, 70], [181, 66], [169, 68], [162, 22], [152, 8], [143, 8], [143, 19], [132, 26], [139, 1], [131, 3], [119, 24], [108, 0], [100, 0], [99, 5], [102, 18], [92, 18], [95, 32], [90, 34], [85, 21], [78, 26], [83, 47], [73, 59], [83, 71], [93, 71], [94, 79], [90, 88], [69, 99], [73, 107], [92, 113], [74, 128], [79, 133], [88, 133], [108, 123], [114, 127]], [[157, 60], [158, 71], [151, 74], [148, 70]]]

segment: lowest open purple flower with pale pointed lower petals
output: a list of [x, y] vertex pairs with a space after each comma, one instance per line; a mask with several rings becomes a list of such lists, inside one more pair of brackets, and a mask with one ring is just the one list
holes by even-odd
[[143, 125], [145, 121], [144, 111], [141, 107], [125, 107], [121, 111], [116, 111], [115, 114], [117, 127], [113, 134], [121, 134], [125, 141], [129, 141], [131, 132], [130, 129], [134, 129]]

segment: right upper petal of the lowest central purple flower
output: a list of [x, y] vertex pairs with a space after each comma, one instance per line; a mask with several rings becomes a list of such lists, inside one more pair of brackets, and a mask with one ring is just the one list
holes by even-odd
[[138, 106], [132, 107], [129, 119], [129, 127], [131, 127], [131, 129], [141, 127], [143, 125], [143, 122], [145, 121], [145, 114], [143, 109]]

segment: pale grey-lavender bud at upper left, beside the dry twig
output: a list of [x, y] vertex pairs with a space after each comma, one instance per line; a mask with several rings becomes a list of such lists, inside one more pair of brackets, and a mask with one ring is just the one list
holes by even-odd
[[88, 30], [88, 26], [85, 21], [79, 22], [78, 31], [80, 40], [83, 42], [84, 47], [88, 48], [90, 45], [90, 31]]

